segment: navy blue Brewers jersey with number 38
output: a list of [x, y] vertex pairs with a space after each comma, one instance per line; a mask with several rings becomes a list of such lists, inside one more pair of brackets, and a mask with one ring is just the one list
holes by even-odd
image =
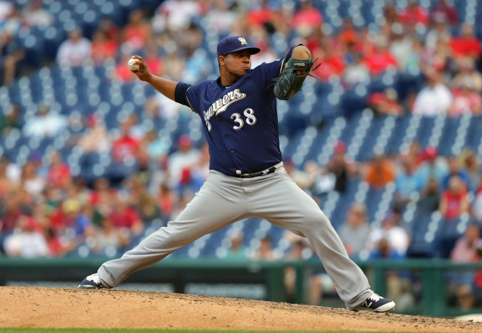
[[220, 78], [177, 84], [176, 102], [189, 106], [204, 123], [210, 169], [232, 176], [281, 162], [273, 79], [292, 51], [255, 67], [229, 87], [222, 86]]

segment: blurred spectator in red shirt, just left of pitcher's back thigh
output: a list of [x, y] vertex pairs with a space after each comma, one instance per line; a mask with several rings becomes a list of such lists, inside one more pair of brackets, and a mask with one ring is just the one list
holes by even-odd
[[137, 236], [144, 230], [144, 223], [138, 212], [129, 205], [128, 197], [122, 193], [118, 193], [114, 199], [115, 203], [109, 215], [110, 220], [115, 228], [127, 228]]

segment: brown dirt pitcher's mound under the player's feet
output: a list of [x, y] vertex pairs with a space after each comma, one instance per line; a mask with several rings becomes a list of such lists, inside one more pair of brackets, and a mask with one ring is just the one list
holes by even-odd
[[0, 327], [482, 333], [475, 322], [163, 292], [0, 287], [0, 300]]

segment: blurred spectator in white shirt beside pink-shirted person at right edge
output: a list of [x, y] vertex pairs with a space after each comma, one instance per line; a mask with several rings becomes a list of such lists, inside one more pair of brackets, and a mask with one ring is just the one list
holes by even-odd
[[418, 93], [413, 105], [413, 114], [435, 117], [447, 113], [452, 104], [452, 93], [442, 82], [440, 73], [433, 67], [425, 70], [427, 86]]

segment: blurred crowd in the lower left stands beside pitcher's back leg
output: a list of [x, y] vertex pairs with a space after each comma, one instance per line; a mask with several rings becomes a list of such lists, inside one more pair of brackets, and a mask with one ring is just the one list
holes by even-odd
[[115, 186], [106, 178], [87, 184], [81, 176], [72, 177], [58, 153], [49, 156], [47, 166], [35, 154], [23, 166], [0, 160], [0, 240], [8, 256], [63, 256], [85, 242], [93, 254], [113, 256], [133, 238], [138, 241], [146, 223], [158, 220], [161, 227], [179, 214], [207, 177], [207, 145], [197, 149], [181, 136], [167, 159], [152, 132], [137, 140], [127, 124], [123, 128], [125, 135], [107, 141], [112, 157], [142, 156], [158, 165]]

